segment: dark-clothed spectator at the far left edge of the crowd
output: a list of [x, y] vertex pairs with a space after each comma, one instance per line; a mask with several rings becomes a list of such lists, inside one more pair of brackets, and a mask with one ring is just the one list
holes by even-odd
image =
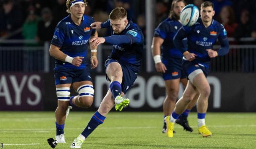
[[14, 31], [20, 29], [22, 23], [21, 10], [17, 9], [12, 0], [4, 0], [3, 12], [0, 13], [0, 36], [11, 36], [12, 39], [21, 38], [21, 34], [14, 33]]

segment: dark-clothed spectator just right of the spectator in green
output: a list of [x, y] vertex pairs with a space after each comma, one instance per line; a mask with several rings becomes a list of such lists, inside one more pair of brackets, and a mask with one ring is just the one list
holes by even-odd
[[52, 40], [57, 22], [53, 20], [52, 11], [48, 7], [42, 9], [41, 17], [42, 20], [39, 21], [37, 27], [37, 40], [42, 43]]

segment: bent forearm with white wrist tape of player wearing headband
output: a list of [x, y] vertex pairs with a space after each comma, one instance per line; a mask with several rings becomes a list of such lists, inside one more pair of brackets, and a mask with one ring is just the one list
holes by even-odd
[[50, 56], [53, 56], [54, 58], [58, 59], [58, 60], [61, 60], [63, 62], [69, 62], [71, 64], [73, 64], [74, 66], [77, 66], [79, 67], [82, 63], [82, 59], [84, 57], [81, 57], [81, 56], [77, 56], [75, 58], [72, 58], [68, 55], [66, 55], [65, 53], [63, 53], [62, 51], [59, 50], [60, 48], [51, 44], [50, 45]]

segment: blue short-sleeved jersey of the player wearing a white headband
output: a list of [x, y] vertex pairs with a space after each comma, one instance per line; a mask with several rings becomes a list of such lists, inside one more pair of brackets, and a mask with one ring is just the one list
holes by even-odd
[[90, 24], [93, 22], [94, 19], [92, 17], [83, 15], [82, 23], [78, 26], [69, 15], [57, 24], [51, 44], [60, 47], [60, 51], [68, 56], [73, 58], [82, 56], [85, 58], [79, 67], [56, 59], [55, 70], [61, 68], [88, 69], [86, 60], [87, 47], [90, 36], [94, 35], [96, 31], [90, 27]]

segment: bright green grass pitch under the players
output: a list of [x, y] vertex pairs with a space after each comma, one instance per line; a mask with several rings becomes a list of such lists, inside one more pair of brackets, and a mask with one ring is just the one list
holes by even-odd
[[[71, 111], [65, 124], [69, 149], [94, 112]], [[110, 112], [85, 140], [82, 149], [256, 149], [256, 113], [207, 113], [206, 125], [213, 136], [197, 131], [197, 113], [188, 118], [192, 133], [175, 125], [174, 138], [162, 134], [162, 112]], [[3, 149], [51, 149], [47, 138], [55, 138], [54, 112], [1, 112], [0, 142]]]

